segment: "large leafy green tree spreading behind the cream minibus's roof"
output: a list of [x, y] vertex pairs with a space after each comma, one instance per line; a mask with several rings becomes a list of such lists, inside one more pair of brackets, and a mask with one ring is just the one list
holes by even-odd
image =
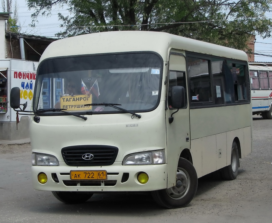
[[163, 31], [236, 49], [247, 49], [251, 34], [270, 37], [266, 17], [272, 0], [27, 0], [33, 26], [37, 16], [59, 13], [57, 37], [115, 30]]

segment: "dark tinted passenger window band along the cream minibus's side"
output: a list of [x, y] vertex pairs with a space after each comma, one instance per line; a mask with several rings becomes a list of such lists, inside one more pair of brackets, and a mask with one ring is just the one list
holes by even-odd
[[192, 107], [250, 102], [248, 67], [245, 62], [191, 54], [186, 59]]

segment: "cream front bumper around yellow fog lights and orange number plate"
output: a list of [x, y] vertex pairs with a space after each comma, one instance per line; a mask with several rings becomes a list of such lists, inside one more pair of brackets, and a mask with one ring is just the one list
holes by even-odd
[[[107, 180], [71, 180], [70, 170], [106, 170]], [[48, 177], [45, 184], [37, 180], [41, 172]], [[138, 182], [137, 176], [140, 172], [148, 174], [147, 183]], [[122, 162], [115, 162], [110, 166], [71, 167], [59, 163], [59, 166], [32, 166], [31, 174], [35, 190], [111, 192], [152, 191], [167, 187], [167, 164], [123, 166]]]

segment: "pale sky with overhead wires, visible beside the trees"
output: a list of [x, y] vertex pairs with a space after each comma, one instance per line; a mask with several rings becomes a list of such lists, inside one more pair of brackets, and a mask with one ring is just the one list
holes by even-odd
[[[15, 0], [12, 1], [13, 4]], [[52, 8], [52, 15], [50, 17], [39, 17], [38, 24], [36, 28], [31, 28], [31, 17], [30, 15], [34, 12], [28, 10], [25, 0], [17, 0], [18, 16], [21, 23], [21, 33], [26, 33], [30, 35], [37, 35], [43, 37], [55, 37], [54, 34], [64, 29], [60, 28], [61, 22], [58, 20], [57, 14], [61, 12], [63, 15], [70, 15], [66, 8]], [[0, 11], [2, 11], [2, 6], [0, 6]], [[267, 14], [267, 17], [272, 17], [272, 14]], [[255, 62], [272, 62], [272, 37], [262, 39], [260, 36], [256, 35], [255, 42], [255, 53], [265, 54], [270, 56], [257, 56], [255, 55]]]

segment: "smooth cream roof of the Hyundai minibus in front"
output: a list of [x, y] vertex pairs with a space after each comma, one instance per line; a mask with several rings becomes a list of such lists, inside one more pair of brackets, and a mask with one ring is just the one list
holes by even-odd
[[52, 42], [44, 51], [40, 62], [46, 58], [98, 53], [153, 51], [167, 61], [168, 49], [221, 56], [247, 61], [245, 52], [224, 46], [193, 40], [177, 35], [150, 31], [113, 31], [91, 33]]

